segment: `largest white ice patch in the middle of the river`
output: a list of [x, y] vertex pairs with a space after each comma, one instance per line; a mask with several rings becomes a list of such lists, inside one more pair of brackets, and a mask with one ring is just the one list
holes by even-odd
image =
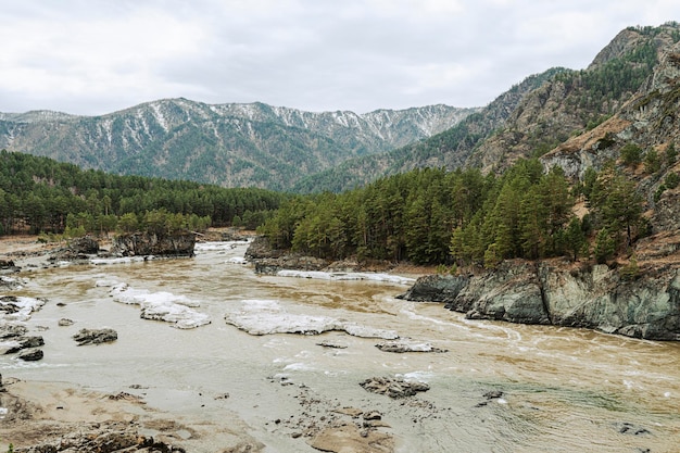
[[399, 338], [394, 330], [376, 329], [330, 316], [289, 313], [277, 301], [273, 300], [244, 300], [241, 304], [241, 311], [228, 313], [225, 315], [225, 320], [250, 335], [319, 335], [325, 331], [340, 330], [354, 337], [385, 340]]

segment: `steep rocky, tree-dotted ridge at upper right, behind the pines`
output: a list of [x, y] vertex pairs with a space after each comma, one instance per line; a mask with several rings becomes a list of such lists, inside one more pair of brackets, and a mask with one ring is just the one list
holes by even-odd
[[[588, 68], [554, 68], [528, 77], [480, 112], [427, 140], [360, 158], [304, 181], [303, 189], [342, 190], [424, 167], [480, 167], [502, 173], [520, 158], [545, 154], [617, 115], [644, 91], [659, 62], [680, 40], [680, 26], [630, 27], [595, 55]], [[651, 126], [651, 125], [650, 125]], [[664, 134], [650, 128], [650, 135]], [[602, 159], [604, 161], [604, 158]]]

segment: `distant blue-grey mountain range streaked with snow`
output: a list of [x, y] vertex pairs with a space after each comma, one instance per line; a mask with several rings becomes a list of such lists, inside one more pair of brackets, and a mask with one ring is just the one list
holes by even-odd
[[305, 175], [445, 130], [476, 109], [302, 112], [167, 99], [87, 117], [0, 114], [0, 149], [119, 174], [290, 189]]

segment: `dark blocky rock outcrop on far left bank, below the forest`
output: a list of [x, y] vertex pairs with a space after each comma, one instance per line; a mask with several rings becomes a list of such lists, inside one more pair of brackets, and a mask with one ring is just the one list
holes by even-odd
[[193, 256], [191, 232], [160, 236], [150, 232], [121, 235], [113, 239], [112, 253], [123, 256]]

